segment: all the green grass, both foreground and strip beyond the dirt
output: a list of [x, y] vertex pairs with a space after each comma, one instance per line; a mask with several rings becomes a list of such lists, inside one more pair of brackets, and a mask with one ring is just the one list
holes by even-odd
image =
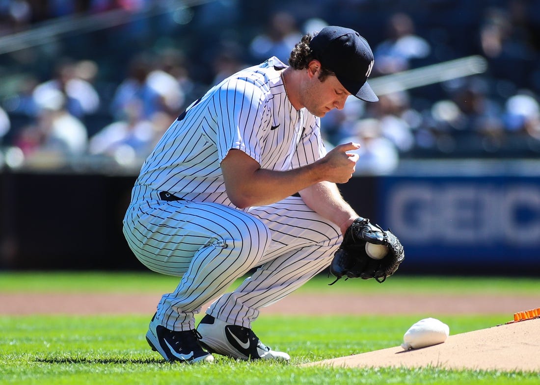
[[[23, 279], [24, 278], [24, 279]], [[168, 281], [171, 279], [171, 281]], [[475, 292], [537, 293], [538, 280], [484, 278], [394, 277], [383, 285], [347, 281], [347, 285], [325, 287], [318, 277], [302, 291], [448, 290]], [[441, 285], [444, 281], [444, 285]], [[168, 290], [174, 277], [153, 274], [112, 273], [25, 273], [0, 274], [0, 292], [124, 292]], [[350, 283], [350, 285], [349, 285]], [[387, 286], [387, 284], [390, 284]], [[386, 286], [386, 287], [385, 287]], [[487, 286], [487, 287], [486, 287]], [[495, 287], [496, 286], [496, 287]], [[507, 292], [507, 291], [505, 291]], [[144, 339], [148, 316], [89, 317], [75, 315], [0, 317], [0, 384], [538, 384], [540, 373], [480, 370], [354, 369], [299, 367], [298, 364], [399, 346], [403, 333], [416, 322], [415, 315], [393, 317], [335, 315], [333, 317], [284, 317], [265, 315], [255, 331], [273, 348], [291, 354], [288, 364], [244, 362], [215, 356], [213, 364], [165, 363], [150, 350]], [[451, 334], [491, 327], [508, 321], [509, 314], [444, 316]], [[199, 320], [200, 318], [198, 318]]]

